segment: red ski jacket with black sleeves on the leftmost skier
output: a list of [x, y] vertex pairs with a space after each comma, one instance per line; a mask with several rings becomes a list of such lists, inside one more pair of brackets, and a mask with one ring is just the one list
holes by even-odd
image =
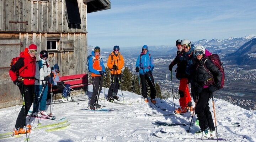
[[[24, 54], [9, 70], [12, 81], [22, 77], [24, 85], [34, 85], [34, 76], [36, 75], [36, 57], [28, 54], [28, 48], [25, 48]], [[19, 78], [20, 79], [20, 78]]]

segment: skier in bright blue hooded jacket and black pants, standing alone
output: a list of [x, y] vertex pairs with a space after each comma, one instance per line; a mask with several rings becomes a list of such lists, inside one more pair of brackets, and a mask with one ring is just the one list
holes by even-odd
[[140, 82], [142, 84], [142, 96], [146, 103], [148, 102], [148, 95], [146, 93], [146, 81], [148, 82], [148, 85], [150, 87], [151, 102], [156, 103], [155, 101], [156, 90], [155, 90], [154, 78], [152, 75], [153, 69], [154, 69], [153, 57], [151, 57], [151, 54], [149, 53], [148, 46], [144, 45], [142, 47], [142, 52], [136, 61], [135, 70], [136, 72], [139, 72]]

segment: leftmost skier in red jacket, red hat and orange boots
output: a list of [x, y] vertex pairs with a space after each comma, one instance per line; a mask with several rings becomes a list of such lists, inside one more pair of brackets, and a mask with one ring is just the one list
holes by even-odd
[[24, 54], [11, 67], [9, 74], [15, 85], [20, 89], [23, 106], [18, 114], [14, 135], [30, 133], [31, 125], [26, 125], [27, 113], [33, 103], [34, 94], [34, 76], [36, 75], [36, 55], [37, 46], [31, 44], [25, 48]]

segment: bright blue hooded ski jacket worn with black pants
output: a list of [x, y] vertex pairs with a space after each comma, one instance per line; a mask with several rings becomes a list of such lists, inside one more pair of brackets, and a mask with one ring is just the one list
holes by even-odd
[[146, 54], [142, 52], [139, 55], [136, 61], [136, 67], [139, 67], [140, 74], [146, 75], [149, 71], [153, 72], [153, 69], [154, 69], [153, 57], [149, 54], [148, 50]]

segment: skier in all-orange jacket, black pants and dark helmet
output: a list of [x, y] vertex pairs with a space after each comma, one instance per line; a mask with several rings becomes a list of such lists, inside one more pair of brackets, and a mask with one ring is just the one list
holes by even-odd
[[[121, 71], [124, 66], [123, 56], [119, 52], [119, 46], [114, 46], [113, 52], [108, 56], [107, 66], [110, 69], [111, 73], [111, 85], [108, 89], [108, 101], [114, 101], [114, 99], [118, 100], [117, 96], [118, 89], [120, 87], [119, 81], [121, 80]], [[118, 78], [119, 81], [118, 81]]]

